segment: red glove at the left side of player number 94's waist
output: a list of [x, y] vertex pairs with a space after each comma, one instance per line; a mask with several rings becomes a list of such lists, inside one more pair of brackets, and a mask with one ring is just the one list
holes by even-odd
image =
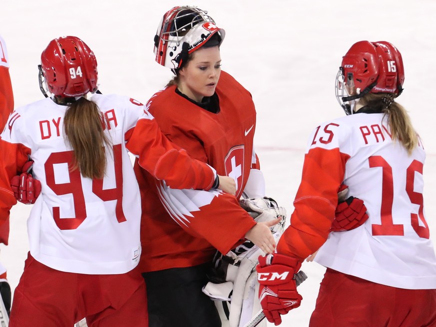
[[27, 161], [22, 167], [23, 173], [13, 176], [10, 180], [10, 187], [16, 200], [23, 204], [35, 203], [39, 193], [41, 193], [41, 182], [33, 179], [28, 172], [32, 168], [33, 161]]

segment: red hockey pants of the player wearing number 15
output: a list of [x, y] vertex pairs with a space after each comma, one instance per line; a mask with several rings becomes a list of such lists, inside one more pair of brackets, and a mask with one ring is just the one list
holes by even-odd
[[405, 290], [327, 269], [310, 327], [435, 327], [436, 290]]

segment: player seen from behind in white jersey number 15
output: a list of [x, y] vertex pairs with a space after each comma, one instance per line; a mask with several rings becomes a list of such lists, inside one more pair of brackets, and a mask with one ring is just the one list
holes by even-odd
[[[277, 254], [260, 258], [260, 299], [271, 322], [299, 306], [293, 273], [320, 248], [327, 267], [310, 327], [436, 326], [436, 257], [423, 203], [421, 140], [406, 110], [400, 52], [355, 43], [343, 57], [337, 97], [347, 113], [309, 138], [291, 225]], [[329, 234], [340, 185], [369, 219]]]

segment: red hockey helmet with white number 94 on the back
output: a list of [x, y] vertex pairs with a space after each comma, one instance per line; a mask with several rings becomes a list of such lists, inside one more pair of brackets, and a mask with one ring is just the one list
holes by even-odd
[[41, 54], [39, 87], [56, 98], [77, 97], [97, 90], [97, 59], [91, 49], [75, 36], [55, 38]]

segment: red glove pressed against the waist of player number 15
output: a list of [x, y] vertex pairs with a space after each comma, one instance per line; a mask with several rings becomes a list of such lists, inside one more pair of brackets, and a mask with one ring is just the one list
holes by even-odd
[[349, 197], [348, 186], [341, 185], [338, 193], [339, 203], [335, 211], [335, 220], [330, 228], [331, 232], [349, 231], [361, 226], [368, 219], [367, 207], [361, 199]]

